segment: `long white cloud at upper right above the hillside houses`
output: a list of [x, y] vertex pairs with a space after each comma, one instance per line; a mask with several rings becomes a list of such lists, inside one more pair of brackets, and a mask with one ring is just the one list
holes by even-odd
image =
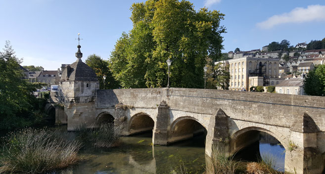
[[308, 5], [307, 8], [297, 7], [289, 13], [271, 16], [256, 25], [262, 29], [270, 29], [276, 25], [287, 23], [303, 23], [325, 20], [325, 5]]

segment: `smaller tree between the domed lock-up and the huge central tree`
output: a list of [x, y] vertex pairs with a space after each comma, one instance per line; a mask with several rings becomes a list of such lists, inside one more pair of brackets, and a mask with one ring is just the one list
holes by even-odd
[[106, 76], [105, 79], [105, 89], [114, 89], [118, 88], [119, 85], [112, 76], [111, 71], [108, 68], [109, 62], [100, 58], [96, 54], [89, 55], [86, 59], [86, 64], [90, 66], [96, 73], [97, 79], [99, 81], [99, 88], [104, 88], [104, 79], [103, 76]]

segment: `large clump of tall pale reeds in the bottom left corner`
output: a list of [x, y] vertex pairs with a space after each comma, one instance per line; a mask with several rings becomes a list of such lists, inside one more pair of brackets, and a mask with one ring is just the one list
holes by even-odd
[[58, 131], [27, 128], [2, 137], [0, 173], [42, 174], [78, 162], [78, 141]]

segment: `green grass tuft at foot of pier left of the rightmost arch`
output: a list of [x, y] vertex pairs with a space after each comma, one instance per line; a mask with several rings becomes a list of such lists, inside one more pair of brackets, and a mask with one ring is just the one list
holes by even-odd
[[239, 162], [228, 157], [223, 148], [213, 147], [211, 163], [207, 165], [207, 174], [235, 174]]

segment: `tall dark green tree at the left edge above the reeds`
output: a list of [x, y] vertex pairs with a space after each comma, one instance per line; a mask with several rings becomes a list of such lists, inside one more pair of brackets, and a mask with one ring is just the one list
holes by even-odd
[[31, 126], [38, 122], [35, 112], [43, 109], [40, 103], [44, 100], [32, 92], [41, 84], [22, 80], [21, 60], [14, 53], [9, 41], [0, 52], [0, 130]]

